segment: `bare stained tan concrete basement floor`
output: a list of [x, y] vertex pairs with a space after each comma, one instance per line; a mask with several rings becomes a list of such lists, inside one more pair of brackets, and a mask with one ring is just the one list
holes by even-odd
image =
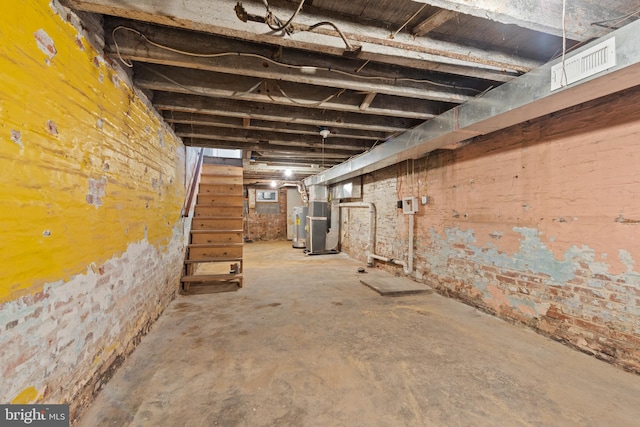
[[640, 425], [640, 377], [435, 293], [381, 297], [360, 266], [246, 244], [244, 288], [173, 301], [79, 425]]

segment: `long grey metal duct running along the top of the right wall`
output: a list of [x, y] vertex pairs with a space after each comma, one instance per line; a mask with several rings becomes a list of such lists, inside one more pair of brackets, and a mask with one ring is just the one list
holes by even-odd
[[[640, 82], [640, 21], [628, 24], [601, 40], [615, 37], [615, 67], [551, 92], [548, 63], [522, 77], [437, 118], [411, 129], [326, 172], [309, 177], [307, 185], [327, 185], [369, 173], [407, 159], [532, 120], [556, 111], [594, 100], [638, 85]], [[601, 40], [577, 49], [589, 49]]]

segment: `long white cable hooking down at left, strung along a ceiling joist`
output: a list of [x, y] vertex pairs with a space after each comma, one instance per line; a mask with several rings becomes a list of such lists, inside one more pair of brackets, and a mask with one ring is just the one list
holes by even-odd
[[137, 36], [139, 36], [140, 38], [142, 38], [145, 42], [147, 42], [150, 45], [155, 46], [155, 47], [157, 47], [159, 49], [167, 50], [169, 52], [178, 53], [178, 54], [181, 54], [181, 55], [197, 57], [197, 58], [222, 58], [222, 57], [241, 56], [241, 57], [246, 57], [246, 58], [257, 58], [257, 59], [269, 62], [269, 63], [271, 63], [273, 65], [277, 65], [277, 66], [285, 67], [285, 68], [289, 68], [289, 69], [300, 70], [302, 72], [320, 70], [320, 71], [336, 73], [336, 74], [340, 74], [340, 75], [344, 75], [344, 76], [348, 76], [348, 77], [352, 77], [352, 78], [356, 78], [356, 79], [360, 79], [360, 80], [385, 81], [385, 82], [388, 82], [388, 81], [393, 81], [393, 82], [411, 82], [411, 83], [418, 83], [418, 84], [429, 84], [429, 85], [433, 85], [433, 86], [446, 87], [446, 88], [451, 88], [451, 89], [469, 90], [469, 91], [478, 92], [478, 93], [481, 92], [480, 90], [474, 89], [474, 88], [469, 88], [469, 87], [464, 87], [464, 86], [457, 86], [457, 85], [450, 85], [450, 84], [446, 84], [446, 83], [439, 83], [439, 82], [434, 82], [432, 80], [427, 80], [427, 79], [413, 79], [413, 78], [408, 78], [408, 77], [390, 78], [390, 77], [382, 77], [382, 76], [363, 76], [361, 74], [351, 73], [351, 72], [348, 72], [348, 71], [338, 70], [338, 69], [330, 68], [330, 67], [317, 67], [317, 66], [314, 66], [314, 65], [287, 64], [287, 63], [276, 61], [276, 60], [271, 59], [271, 58], [269, 58], [267, 56], [259, 55], [259, 54], [256, 54], [256, 53], [243, 53], [243, 52], [197, 53], [197, 52], [188, 52], [188, 51], [185, 51], [185, 50], [176, 49], [176, 48], [173, 48], [171, 46], [166, 46], [166, 45], [163, 45], [161, 43], [154, 42], [153, 40], [151, 40], [149, 37], [147, 37], [142, 32], [140, 32], [140, 31], [138, 31], [138, 30], [136, 30], [134, 28], [131, 28], [131, 27], [126, 27], [126, 26], [120, 25], [120, 26], [117, 26], [116, 28], [113, 29], [113, 31], [111, 32], [111, 36], [113, 38], [113, 43], [114, 43], [114, 46], [116, 48], [116, 54], [118, 55], [118, 58], [120, 59], [120, 61], [124, 65], [126, 65], [129, 68], [133, 67], [133, 63], [126, 61], [122, 57], [122, 54], [120, 52], [120, 45], [118, 44], [118, 42], [116, 40], [116, 33], [118, 31], [130, 31], [130, 32], [136, 34]]

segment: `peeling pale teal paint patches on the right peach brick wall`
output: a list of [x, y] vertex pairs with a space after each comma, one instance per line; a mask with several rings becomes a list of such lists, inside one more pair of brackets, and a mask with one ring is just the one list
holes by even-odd
[[[577, 271], [582, 271], [584, 264], [588, 265], [588, 270], [592, 275], [602, 275], [610, 279], [610, 282], [619, 282], [624, 286], [637, 287], [640, 289], [640, 273], [633, 271], [634, 261], [632, 256], [625, 250], [619, 251], [620, 260], [627, 266], [627, 272], [620, 275], [609, 273], [609, 265], [602, 261], [596, 261], [595, 250], [588, 246], [574, 245], [570, 247], [561, 259], [554, 256], [553, 252], [540, 239], [540, 232], [536, 229], [526, 227], [514, 227], [513, 230], [522, 236], [518, 252], [501, 252], [494, 243], [489, 242], [485, 247], [476, 245], [474, 230], [461, 230], [457, 227], [449, 227], [444, 231], [445, 236], [436, 232], [432, 227], [429, 230], [431, 246], [418, 254], [427, 261], [429, 270], [444, 277], [460, 276], [466, 274], [474, 289], [476, 289], [485, 301], [494, 299], [488, 290], [491, 279], [480, 274], [478, 265], [493, 266], [503, 273], [506, 271], [516, 271], [520, 274], [533, 274], [542, 277], [542, 284], [545, 286], [573, 286], [572, 279], [577, 277]], [[454, 259], [464, 259], [468, 264], [452, 264]], [[606, 257], [601, 256], [601, 259]], [[476, 266], [474, 266], [474, 264]], [[581, 279], [584, 279], [581, 277]], [[607, 281], [609, 283], [609, 281]], [[605, 322], [613, 321], [620, 308], [614, 302], [607, 300], [607, 290], [605, 290], [605, 280], [601, 278], [589, 278], [586, 280], [589, 294], [576, 294], [571, 292], [571, 296], [550, 297], [547, 300], [536, 303], [534, 298], [527, 296], [513, 295], [518, 292], [516, 286], [509, 288], [505, 293], [505, 298], [513, 308], [527, 306], [536, 313], [544, 313], [549, 304], [558, 302], [566, 309], [575, 313], [589, 314], [599, 317]], [[610, 286], [610, 285], [607, 285]], [[621, 293], [620, 298], [625, 301], [624, 311], [637, 315], [640, 309], [635, 304], [635, 297], [626, 292]], [[588, 304], [584, 304], [584, 298], [590, 299]], [[640, 299], [640, 297], [639, 297]], [[620, 304], [620, 303], [618, 303]]]

